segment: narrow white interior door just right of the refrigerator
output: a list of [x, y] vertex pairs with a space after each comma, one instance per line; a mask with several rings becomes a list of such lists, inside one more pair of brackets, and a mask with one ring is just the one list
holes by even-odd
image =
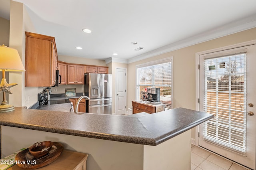
[[126, 114], [126, 68], [116, 68], [116, 115]]

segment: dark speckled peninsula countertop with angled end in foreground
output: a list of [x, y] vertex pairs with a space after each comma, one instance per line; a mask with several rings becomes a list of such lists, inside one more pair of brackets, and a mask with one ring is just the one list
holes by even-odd
[[156, 146], [211, 118], [184, 108], [128, 117], [16, 107], [0, 114], [0, 125]]

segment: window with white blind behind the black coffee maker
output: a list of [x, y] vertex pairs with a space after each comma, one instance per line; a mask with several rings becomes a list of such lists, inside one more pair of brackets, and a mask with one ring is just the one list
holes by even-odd
[[148, 87], [160, 88], [160, 101], [172, 109], [172, 58], [136, 66], [137, 100], [145, 98]]

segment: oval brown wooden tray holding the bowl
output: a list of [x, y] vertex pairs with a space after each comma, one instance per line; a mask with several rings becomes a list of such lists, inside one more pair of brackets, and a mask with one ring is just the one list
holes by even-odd
[[21, 168], [36, 169], [46, 166], [56, 160], [63, 150], [63, 146], [59, 142], [53, 142], [52, 148], [48, 154], [36, 159], [29, 152], [29, 148], [19, 152], [16, 157], [16, 164]]

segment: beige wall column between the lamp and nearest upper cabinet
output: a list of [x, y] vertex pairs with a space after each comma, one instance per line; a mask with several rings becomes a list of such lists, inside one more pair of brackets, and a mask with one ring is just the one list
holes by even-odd
[[[25, 63], [25, 31], [36, 32], [34, 25], [26, 11], [25, 6], [22, 3], [11, 1], [10, 4], [10, 47], [18, 50], [18, 53], [22, 59], [22, 63]], [[42, 87], [25, 87], [24, 72], [10, 72], [9, 83], [18, 83], [18, 85], [12, 87], [12, 95], [9, 95], [9, 103], [18, 106], [30, 107], [37, 102], [37, 93], [42, 91]], [[26, 103], [25, 103], [26, 98]]]

